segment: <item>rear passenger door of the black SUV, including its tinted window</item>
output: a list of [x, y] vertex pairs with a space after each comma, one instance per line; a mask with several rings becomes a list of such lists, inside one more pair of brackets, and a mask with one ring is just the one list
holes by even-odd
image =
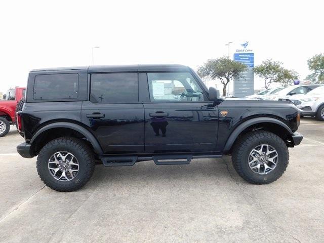
[[106, 154], [144, 152], [144, 108], [138, 102], [138, 73], [90, 74], [90, 101], [83, 102], [82, 122]]

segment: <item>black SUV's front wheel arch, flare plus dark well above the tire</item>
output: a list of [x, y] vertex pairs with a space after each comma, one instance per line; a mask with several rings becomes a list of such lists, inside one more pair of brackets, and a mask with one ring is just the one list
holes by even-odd
[[293, 131], [281, 120], [271, 117], [256, 117], [245, 121], [234, 129], [229, 138], [227, 139], [224, 151], [228, 152], [231, 150], [235, 141], [242, 135], [255, 130], [265, 130], [278, 135], [284, 140], [288, 147], [293, 147], [292, 134]]

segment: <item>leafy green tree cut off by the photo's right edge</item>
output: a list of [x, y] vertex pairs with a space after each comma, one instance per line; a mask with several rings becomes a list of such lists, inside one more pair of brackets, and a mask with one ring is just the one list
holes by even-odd
[[324, 84], [324, 54], [317, 54], [307, 61], [309, 70], [313, 73], [306, 78], [312, 83]]

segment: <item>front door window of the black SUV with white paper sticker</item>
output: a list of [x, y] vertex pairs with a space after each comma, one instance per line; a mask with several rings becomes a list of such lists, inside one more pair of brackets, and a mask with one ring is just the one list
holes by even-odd
[[203, 90], [189, 72], [150, 72], [147, 79], [152, 102], [204, 101]]

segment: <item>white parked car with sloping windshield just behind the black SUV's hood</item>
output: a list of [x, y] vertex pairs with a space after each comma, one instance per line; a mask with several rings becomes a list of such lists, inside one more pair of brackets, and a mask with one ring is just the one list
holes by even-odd
[[320, 85], [292, 85], [287, 86], [284, 89], [276, 91], [272, 94], [265, 95], [262, 100], [279, 100], [279, 99], [294, 99], [296, 95], [307, 94], [309, 91], [317, 88]]

